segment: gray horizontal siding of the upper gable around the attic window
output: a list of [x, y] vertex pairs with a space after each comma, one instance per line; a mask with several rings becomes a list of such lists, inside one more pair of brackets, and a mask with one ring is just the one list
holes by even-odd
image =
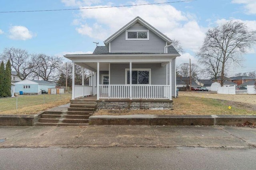
[[[128, 30], [148, 30], [139, 23], [134, 24]], [[125, 40], [126, 32], [124, 31], [110, 44], [111, 52], [148, 52], [148, 53], [164, 53], [166, 42], [153, 32], [149, 31], [149, 40]]]

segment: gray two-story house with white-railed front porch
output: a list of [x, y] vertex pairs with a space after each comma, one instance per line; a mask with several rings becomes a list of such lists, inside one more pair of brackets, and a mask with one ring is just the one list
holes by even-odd
[[[104, 44], [92, 54], [64, 55], [73, 63], [72, 99], [96, 94], [97, 100], [171, 100], [176, 96], [176, 57], [180, 54], [156, 28], [136, 17]], [[92, 86], [74, 84], [75, 64], [93, 71]]]

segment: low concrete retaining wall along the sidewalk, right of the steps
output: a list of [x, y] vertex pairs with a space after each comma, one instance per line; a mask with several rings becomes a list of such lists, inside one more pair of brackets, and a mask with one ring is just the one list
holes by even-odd
[[97, 115], [89, 125], [238, 125], [256, 122], [256, 115]]

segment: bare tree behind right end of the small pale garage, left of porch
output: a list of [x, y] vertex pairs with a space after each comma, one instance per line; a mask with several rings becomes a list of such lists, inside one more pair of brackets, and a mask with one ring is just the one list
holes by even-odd
[[60, 57], [35, 54], [32, 57], [34, 67], [31, 69], [34, 77], [40, 77], [44, 81], [56, 81], [57, 71], [62, 63]]

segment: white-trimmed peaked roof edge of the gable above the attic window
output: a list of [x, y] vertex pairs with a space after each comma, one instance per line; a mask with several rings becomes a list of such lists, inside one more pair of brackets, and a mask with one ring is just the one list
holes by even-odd
[[118, 30], [116, 33], [114, 33], [112, 36], [110, 36], [108, 39], [106, 39], [104, 41], [106, 47], [108, 47], [108, 43], [110, 43], [112, 40], [114, 40], [116, 37], [118, 37], [120, 34], [122, 34], [125, 30], [127, 30], [128, 28], [130, 28], [131, 26], [133, 26], [136, 22], [139, 22], [140, 24], [142, 24], [144, 27], [148, 28], [148, 30], [154, 32], [154, 34], [156, 34], [157, 36], [159, 36], [160, 38], [162, 38], [164, 41], [168, 42], [168, 45], [170, 43], [172, 43], [172, 40], [170, 38], [168, 38], [167, 36], [165, 36], [164, 34], [162, 34], [160, 31], [156, 30], [156, 28], [154, 28], [153, 26], [151, 26], [150, 24], [148, 24], [146, 21], [142, 20], [142, 18], [140, 18], [139, 16], [137, 16], [136, 18], [134, 18], [132, 21], [130, 21], [128, 24], [126, 24], [124, 27], [122, 27], [120, 30]]

